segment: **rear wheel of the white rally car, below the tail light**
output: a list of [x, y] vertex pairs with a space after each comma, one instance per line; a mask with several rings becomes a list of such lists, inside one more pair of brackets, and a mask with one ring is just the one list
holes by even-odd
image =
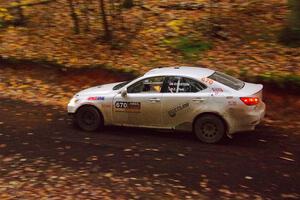
[[207, 114], [195, 120], [194, 133], [200, 141], [214, 144], [225, 137], [226, 126], [220, 117]]

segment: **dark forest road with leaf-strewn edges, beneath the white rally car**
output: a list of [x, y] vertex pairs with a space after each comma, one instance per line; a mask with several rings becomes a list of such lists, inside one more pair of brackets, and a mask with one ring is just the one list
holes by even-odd
[[[1, 63], [0, 63], [1, 64]], [[220, 145], [191, 133], [84, 133], [66, 102], [126, 77], [0, 67], [0, 199], [299, 199], [298, 96], [265, 91], [264, 125]]]

